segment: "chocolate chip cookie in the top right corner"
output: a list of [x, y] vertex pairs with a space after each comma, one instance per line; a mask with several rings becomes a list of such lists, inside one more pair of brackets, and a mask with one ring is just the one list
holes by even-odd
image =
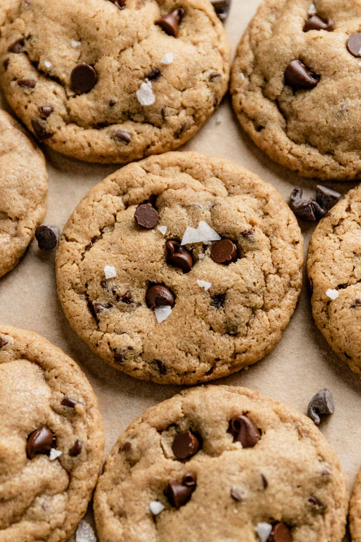
[[231, 83], [239, 121], [300, 175], [361, 175], [360, 28], [353, 0], [265, 0], [240, 41]]

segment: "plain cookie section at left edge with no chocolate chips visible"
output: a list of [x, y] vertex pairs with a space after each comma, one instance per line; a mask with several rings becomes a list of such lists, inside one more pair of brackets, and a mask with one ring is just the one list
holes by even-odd
[[0, 276], [15, 267], [34, 237], [45, 216], [47, 194], [42, 152], [0, 111]]

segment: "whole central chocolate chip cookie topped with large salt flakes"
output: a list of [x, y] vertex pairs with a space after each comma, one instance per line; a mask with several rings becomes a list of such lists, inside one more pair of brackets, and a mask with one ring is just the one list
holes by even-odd
[[178, 384], [272, 350], [302, 267], [303, 237], [280, 194], [192, 152], [130, 164], [95, 186], [56, 257], [64, 312], [91, 349], [136, 378]]

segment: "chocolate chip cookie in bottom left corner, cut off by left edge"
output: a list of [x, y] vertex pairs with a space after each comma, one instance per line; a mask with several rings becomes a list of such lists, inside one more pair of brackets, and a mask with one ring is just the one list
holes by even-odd
[[39, 335], [0, 326], [0, 420], [0, 542], [67, 540], [104, 449], [87, 378]]

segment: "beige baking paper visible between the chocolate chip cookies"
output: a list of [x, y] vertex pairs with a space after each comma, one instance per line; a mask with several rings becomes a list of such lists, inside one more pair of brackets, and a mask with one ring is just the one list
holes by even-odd
[[[232, 42], [237, 43], [253, 16], [258, 0], [233, 0], [225, 24]], [[0, 102], [1, 102], [0, 98]], [[2, 100], [4, 107], [4, 100]], [[181, 150], [194, 150], [233, 160], [273, 184], [285, 199], [294, 186], [314, 195], [316, 182], [300, 178], [271, 162], [238, 126], [229, 96], [206, 126]], [[49, 198], [46, 221], [60, 228], [84, 194], [99, 183], [115, 166], [84, 164], [44, 148], [49, 172]], [[352, 183], [332, 183], [344, 193]], [[303, 225], [305, 252], [313, 224]], [[60, 346], [81, 366], [99, 397], [106, 433], [106, 454], [120, 433], [141, 412], [172, 397], [181, 388], [140, 382], [111, 369], [94, 356], [71, 330], [56, 295], [53, 252], [42, 253], [33, 241], [18, 266], [0, 280], [0, 322], [40, 333]], [[311, 314], [306, 284], [290, 324], [278, 346], [248, 370], [218, 380], [215, 384], [248, 386], [290, 403], [306, 412], [311, 397], [323, 388], [332, 391], [336, 411], [321, 425], [321, 431], [336, 450], [351, 489], [361, 466], [361, 382], [338, 359], [317, 330]]]

